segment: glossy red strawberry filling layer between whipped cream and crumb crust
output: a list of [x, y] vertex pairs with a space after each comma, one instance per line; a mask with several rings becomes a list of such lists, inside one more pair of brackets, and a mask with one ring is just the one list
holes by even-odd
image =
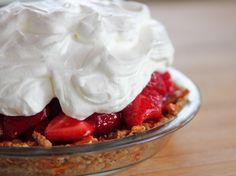
[[0, 115], [0, 141], [29, 140], [37, 131], [52, 142], [75, 142], [88, 136], [101, 137], [117, 129], [158, 121], [175, 93], [168, 72], [154, 72], [148, 85], [125, 109], [117, 113], [94, 113], [84, 121], [65, 115], [54, 98], [41, 112], [30, 117]]

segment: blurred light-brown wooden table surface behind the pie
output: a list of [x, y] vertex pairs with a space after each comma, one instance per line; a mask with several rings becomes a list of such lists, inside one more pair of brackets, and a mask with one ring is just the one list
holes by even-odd
[[175, 67], [199, 85], [202, 107], [163, 151], [115, 176], [236, 176], [236, 1], [144, 2], [166, 25]]

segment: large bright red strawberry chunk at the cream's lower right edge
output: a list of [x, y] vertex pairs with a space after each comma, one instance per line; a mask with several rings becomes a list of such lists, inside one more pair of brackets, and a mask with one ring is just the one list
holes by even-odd
[[161, 109], [154, 100], [140, 94], [122, 111], [122, 115], [127, 125], [132, 127], [147, 120], [158, 120], [161, 117]]

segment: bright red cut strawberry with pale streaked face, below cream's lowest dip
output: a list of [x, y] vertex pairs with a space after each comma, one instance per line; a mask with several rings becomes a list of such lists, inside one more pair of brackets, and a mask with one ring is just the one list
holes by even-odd
[[93, 132], [93, 124], [73, 119], [61, 113], [48, 124], [45, 136], [53, 142], [75, 142]]

